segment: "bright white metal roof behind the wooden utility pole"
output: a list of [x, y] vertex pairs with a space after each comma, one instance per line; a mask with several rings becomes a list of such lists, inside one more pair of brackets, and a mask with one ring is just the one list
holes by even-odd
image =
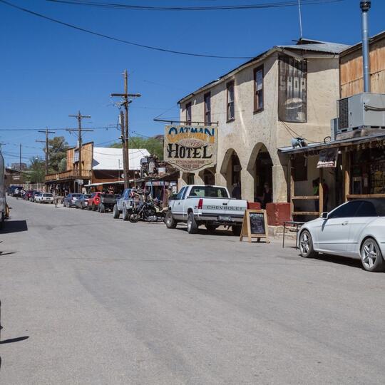
[[[130, 148], [130, 170], [140, 170], [140, 159], [150, 156], [145, 148]], [[93, 170], [123, 170], [123, 151], [121, 148], [94, 147]]]

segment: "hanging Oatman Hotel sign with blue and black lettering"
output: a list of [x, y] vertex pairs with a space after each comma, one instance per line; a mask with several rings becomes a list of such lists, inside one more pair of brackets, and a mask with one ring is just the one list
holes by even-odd
[[217, 163], [217, 127], [166, 125], [164, 160], [185, 173], [214, 167]]

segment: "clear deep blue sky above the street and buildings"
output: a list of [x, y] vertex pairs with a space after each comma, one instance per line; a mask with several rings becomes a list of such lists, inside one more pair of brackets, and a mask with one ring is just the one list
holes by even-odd
[[[257, 56], [268, 48], [299, 37], [298, 9], [160, 12], [97, 9], [45, 0], [9, 0], [32, 11], [85, 29], [178, 51], [222, 56]], [[107, 0], [105, 0], [107, 1]], [[110, 0], [111, 1], [111, 0]], [[115, 3], [164, 6], [258, 4], [267, 0], [114, 0]], [[275, 0], [278, 1], [278, 0]], [[279, 0], [281, 1], [281, 0]], [[373, 0], [370, 34], [385, 29], [385, 1]], [[302, 7], [304, 37], [353, 44], [361, 39], [359, 0]], [[128, 69], [129, 91], [142, 97], [130, 105], [130, 130], [143, 135], [163, 133], [153, 118], [178, 117], [176, 102], [245, 60], [198, 58], [150, 51], [91, 36], [31, 16], [0, 3], [0, 128], [75, 127], [69, 118], [80, 110], [92, 116], [84, 127], [114, 125], [118, 108], [110, 93], [123, 91]], [[168, 110], [168, 111], [167, 111]], [[75, 135], [65, 135], [76, 143]], [[105, 143], [118, 130], [85, 133], [83, 140]], [[135, 134], [134, 134], [135, 135]], [[0, 131], [6, 163], [43, 157], [43, 134]], [[107, 143], [108, 144], [108, 143]], [[106, 144], [103, 144], [106, 145]]]

